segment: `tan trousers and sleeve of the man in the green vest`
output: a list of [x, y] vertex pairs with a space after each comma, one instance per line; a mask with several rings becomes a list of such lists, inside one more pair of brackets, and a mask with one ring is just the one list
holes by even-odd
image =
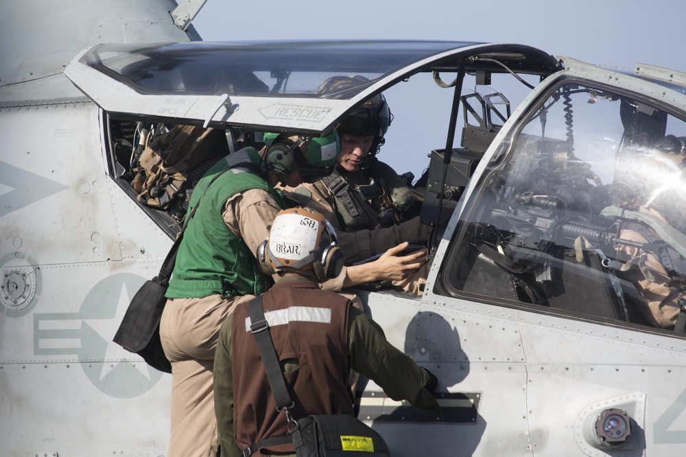
[[[263, 190], [228, 199], [224, 221], [250, 250], [269, 235], [279, 203]], [[162, 314], [160, 336], [171, 362], [171, 439], [167, 457], [213, 457], [217, 453], [213, 362], [217, 334], [235, 306], [253, 295], [171, 299]]]

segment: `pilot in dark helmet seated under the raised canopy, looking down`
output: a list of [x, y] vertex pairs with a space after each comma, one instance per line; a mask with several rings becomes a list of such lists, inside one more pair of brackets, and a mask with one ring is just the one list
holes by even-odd
[[[339, 92], [366, 82], [368, 79], [360, 75], [333, 76], [320, 85], [318, 92]], [[412, 189], [388, 164], [376, 158], [391, 121], [383, 95], [372, 97], [338, 126], [341, 153], [333, 173], [316, 183], [281, 188], [298, 205], [322, 213], [339, 232], [355, 233], [354, 237], [341, 237], [341, 247], [350, 263], [370, 257], [388, 243], [425, 243], [431, 234], [431, 227], [416, 217]], [[410, 217], [411, 213], [415, 216]], [[347, 240], [354, 247], [346, 245]], [[351, 250], [359, 252], [359, 257], [349, 255]], [[425, 266], [393, 285], [421, 295], [427, 269]]]

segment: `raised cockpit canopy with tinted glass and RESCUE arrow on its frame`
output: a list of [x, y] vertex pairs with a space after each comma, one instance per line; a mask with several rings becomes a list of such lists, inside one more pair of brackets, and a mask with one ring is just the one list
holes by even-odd
[[[65, 72], [110, 116], [170, 123], [327, 133], [358, 103], [423, 71], [545, 76], [538, 49], [446, 41], [189, 42], [98, 45]], [[331, 76], [368, 82], [318, 93]]]

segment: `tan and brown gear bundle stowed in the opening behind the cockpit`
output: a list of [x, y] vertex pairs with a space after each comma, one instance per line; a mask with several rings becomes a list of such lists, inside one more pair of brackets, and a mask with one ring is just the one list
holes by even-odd
[[131, 183], [137, 200], [152, 208], [169, 208], [228, 152], [224, 130], [177, 125], [141, 153]]

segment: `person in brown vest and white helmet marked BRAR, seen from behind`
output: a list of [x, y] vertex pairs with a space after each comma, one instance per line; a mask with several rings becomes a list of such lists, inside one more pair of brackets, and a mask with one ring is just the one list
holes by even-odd
[[[379, 325], [355, 308], [357, 297], [319, 288], [319, 282], [342, 269], [344, 256], [335, 241], [335, 230], [321, 214], [292, 208], [276, 215], [260, 247], [281, 276], [262, 295], [262, 305], [265, 314], [287, 316], [278, 324], [270, 322], [269, 331], [294, 401], [292, 418], [352, 415], [351, 369], [373, 380], [392, 399], [405, 399], [440, 417], [430, 393], [438, 384], [436, 377], [388, 343]], [[214, 385], [221, 454], [295, 455], [292, 443], [255, 445], [289, 436], [289, 425], [285, 413], [276, 409], [272, 391], [264, 388], [269, 384], [260, 351], [255, 336], [246, 331], [249, 316], [248, 304], [239, 304], [222, 324], [217, 342]], [[321, 316], [327, 318], [316, 319]], [[233, 351], [235, 347], [240, 350]], [[244, 452], [248, 447], [250, 452]]]

